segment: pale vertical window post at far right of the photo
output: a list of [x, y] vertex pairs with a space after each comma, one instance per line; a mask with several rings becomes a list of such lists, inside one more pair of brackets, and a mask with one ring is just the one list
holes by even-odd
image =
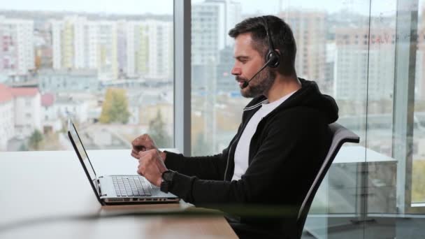
[[[397, 1], [393, 158], [398, 159], [396, 207], [398, 213], [424, 213], [425, 207], [412, 202], [412, 149], [415, 106], [415, 72], [418, 27], [418, 0]], [[407, 79], [407, 82], [406, 82]]]

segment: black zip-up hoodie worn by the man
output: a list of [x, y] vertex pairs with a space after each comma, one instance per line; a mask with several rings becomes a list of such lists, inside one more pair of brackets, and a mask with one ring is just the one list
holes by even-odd
[[[221, 154], [184, 157], [166, 152], [167, 168], [178, 172], [169, 191], [194, 205], [289, 207], [294, 219], [331, 145], [328, 124], [338, 119], [333, 98], [319, 92], [315, 82], [299, 80], [301, 89], [259, 122], [240, 180], [231, 181], [236, 145], [265, 96], [252, 99], [243, 109], [238, 133]], [[240, 222], [259, 221], [242, 216]]]

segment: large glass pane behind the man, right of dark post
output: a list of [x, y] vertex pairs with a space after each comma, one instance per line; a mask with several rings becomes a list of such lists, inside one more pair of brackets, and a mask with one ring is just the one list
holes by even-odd
[[278, 15], [294, 31], [298, 76], [333, 96], [338, 123], [360, 136], [338, 153], [303, 238], [421, 238], [424, 1], [261, 3], [192, 1], [192, 154], [221, 152], [249, 101], [230, 73], [227, 32], [246, 17]]

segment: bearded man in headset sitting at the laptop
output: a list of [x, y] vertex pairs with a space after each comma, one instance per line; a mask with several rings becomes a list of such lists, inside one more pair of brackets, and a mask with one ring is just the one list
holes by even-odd
[[[145, 134], [133, 141], [131, 155], [139, 159], [138, 173], [186, 202], [243, 205], [246, 210], [230, 212], [236, 217], [228, 219], [241, 238], [291, 238], [301, 203], [329, 150], [328, 124], [338, 119], [338, 107], [315, 82], [297, 78], [296, 43], [280, 18], [248, 18], [229, 36], [235, 39], [231, 73], [240, 93], [254, 98], [243, 109], [229, 146], [210, 157], [185, 157], [161, 152]], [[272, 210], [250, 215], [256, 206]], [[273, 209], [284, 215], [269, 213]]]

